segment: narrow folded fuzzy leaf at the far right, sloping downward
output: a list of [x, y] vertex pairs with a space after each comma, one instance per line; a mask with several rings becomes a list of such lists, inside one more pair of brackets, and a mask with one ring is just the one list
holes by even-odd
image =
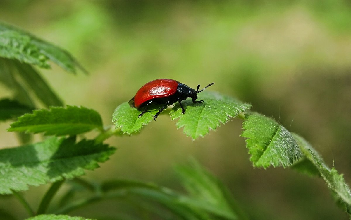
[[343, 174], [339, 174], [334, 167], [330, 169], [317, 151], [304, 138], [297, 134], [293, 134], [293, 137], [297, 141], [304, 156], [318, 169], [319, 174], [323, 177], [329, 188], [336, 194], [346, 211], [351, 214], [351, 190], [345, 182]]

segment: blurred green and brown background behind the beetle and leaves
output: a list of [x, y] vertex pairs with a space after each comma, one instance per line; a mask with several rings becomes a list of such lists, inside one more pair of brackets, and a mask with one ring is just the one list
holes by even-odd
[[[192, 88], [216, 82], [211, 90], [251, 103], [304, 136], [351, 183], [350, 1], [1, 0], [0, 20], [71, 52], [88, 76], [57, 66], [40, 72], [66, 104], [99, 111], [105, 124], [153, 79], [172, 78]], [[85, 178], [180, 189], [173, 166], [194, 157], [252, 219], [348, 219], [322, 179], [253, 168], [239, 137], [241, 120], [196, 141], [174, 123], [164, 113], [140, 134], [110, 138], [118, 150]], [[0, 147], [19, 144], [5, 132], [8, 125], [0, 125]], [[31, 187], [26, 198], [37, 206], [47, 187]], [[26, 216], [16, 200], [1, 199], [0, 206]], [[116, 206], [103, 202], [70, 214], [112, 215]]]

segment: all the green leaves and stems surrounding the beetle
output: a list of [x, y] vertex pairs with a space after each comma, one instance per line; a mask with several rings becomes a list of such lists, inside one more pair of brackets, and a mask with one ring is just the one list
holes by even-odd
[[[114, 111], [114, 125], [104, 129], [97, 111], [78, 106], [60, 107], [63, 103], [32, 66], [48, 68], [47, 62], [51, 60], [66, 71], [75, 73], [79, 65], [66, 51], [17, 28], [1, 24], [0, 57], [0, 64], [3, 64], [0, 65], [0, 80], [14, 92], [13, 98], [0, 101], [1, 120], [25, 113], [11, 124], [8, 131], [51, 135], [42, 142], [0, 150], [0, 194], [13, 194], [31, 216], [27, 220], [85, 219], [59, 214], [68, 214], [105, 199], [130, 199], [136, 210], [133, 213], [146, 211], [151, 216], [167, 219], [247, 219], [229, 190], [197, 162], [177, 169], [187, 194], [153, 183], [111, 180], [99, 184], [76, 178], [84, 175], [85, 170], [98, 168], [98, 163], [107, 161], [114, 153], [115, 148], [103, 143], [107, 138], [139, 132], [153, 120], [160, 106], [153, 106], [138, 118], [138, 109], [122, 103]], [[26, 113], [35, 108], [28, 91], [50, 106], [49, 109]], [[321, 176], [337, 202], [351, 213], [350, 188], [343, 175], [335, 168], [327, 167], [302, 137], [292, 134], [271, 118], [248, 112], [250, 104], [215, 92], [203, 92], [199, 98], [204, 102], [182, 102], [185, 114], [181, 114], [179, 104], [175, 104], [170, 111], [172, 120], [178, 119], [177, 127], [183, 127], [187, 136], [193, 140], [203, 137], [209, 130], [215, 130], [221, 123], [239, 116], [244, 119], [241, 136], [246, 138], [254, 167], [291, 166], [298, 172]], [[98, 130], [98, 136], [92, 140], [82, 136], [92, 129]], [[75, 135], [78, 134], [83, 138], [77, 141]], [[51, 205], [51, 200], [66, 179], [75, 185], [66, 191], [59, 204]], [[19, 191], [48, 182], [52, 182], [52, 186], [43, 196], [37, 212], [34, 212]], [[79, 192], [82, 192], [82, 196], [75, 197]], [[11, 213], [0, 212], [8, 219], [15, 219]], [[143, 215], [130, 216], [132, 219], [145, 219]]]

